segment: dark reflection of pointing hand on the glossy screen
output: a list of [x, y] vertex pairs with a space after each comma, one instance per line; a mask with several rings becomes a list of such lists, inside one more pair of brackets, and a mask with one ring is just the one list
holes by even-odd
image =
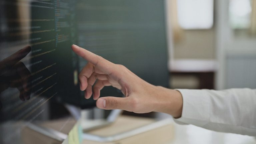
[[30, 98], [28, 81], [31, 73], [20, 61], [30, 51], [31, 47], [27, 46], [0, 61], [0, 93], [9, 87], [13, 87], [19, 90], [20, 100], [24, 101]]

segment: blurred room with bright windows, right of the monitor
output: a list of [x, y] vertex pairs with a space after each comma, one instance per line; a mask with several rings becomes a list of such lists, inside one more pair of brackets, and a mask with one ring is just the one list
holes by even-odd
[[255, 1], [168, 1], [172, 88], [256, 87]]

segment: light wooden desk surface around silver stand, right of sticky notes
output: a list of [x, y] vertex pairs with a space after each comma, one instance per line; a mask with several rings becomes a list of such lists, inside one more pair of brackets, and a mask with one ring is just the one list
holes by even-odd
[[[108, 137], [129, 132], [143, 126], [155, 124], [156, 120], [151, 118], [120, 116], [112, 125], [96, 129], [88, 132], [98, 136]], [[164, 122], [161, 121], [161, 124]], [[174, 128], [172, 123], [167, 123], [160, 127], [148, 130], [146, 132], [138, 133], [136, 135], [123, 138], [114, 142], [106, 142], [104, 144], [166, 144], [173, 140]], [[102, 142], [95, 142], [84, 140], [83, 144], [103, 144]]]

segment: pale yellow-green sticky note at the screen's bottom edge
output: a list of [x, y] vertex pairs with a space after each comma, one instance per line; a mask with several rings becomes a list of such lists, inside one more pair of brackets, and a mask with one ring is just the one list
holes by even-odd
[[81, 144], [82, 143], [82, 128], [80, 122], [77, 122], [75, 126], [68, 133], [68, 144]]

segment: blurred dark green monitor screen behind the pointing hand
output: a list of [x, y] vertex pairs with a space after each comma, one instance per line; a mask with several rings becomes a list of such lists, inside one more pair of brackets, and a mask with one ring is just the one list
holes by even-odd
[[[153, 85], [169, 86], [164, 0], [79, 0], [78, 45], [126, 66]], [[86, 61], [80, 58], [80, 68]], [[105, 87], [101, 96], [122, 97]], [[91, 98], [81, 107], [95, 106]]]

